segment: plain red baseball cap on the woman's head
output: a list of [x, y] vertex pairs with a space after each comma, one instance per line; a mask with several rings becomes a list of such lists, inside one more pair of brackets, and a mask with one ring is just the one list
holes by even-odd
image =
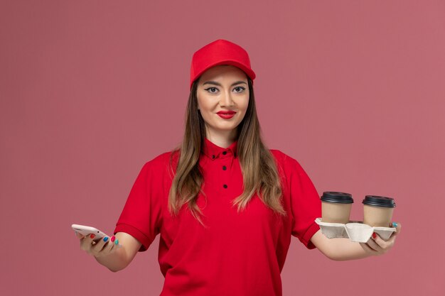
[[218, 65], [232, 65], [243, 70], [251, 80], [255, 72], [250, 67], [247, 51], [240, 45], [227, 40], [218, 39], [200, 48], [193, 54], [190, 70], [190, 88], [193, 81], [200, 77], [208, 68]]

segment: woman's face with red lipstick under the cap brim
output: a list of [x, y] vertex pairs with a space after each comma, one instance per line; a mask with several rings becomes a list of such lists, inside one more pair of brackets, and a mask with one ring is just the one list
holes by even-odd
[[[234, 139], [249, 104], [245, 72], [231, 65], [211, 67], [200, 76], [196, 96], [207, 138]], [[227, 112], [232, 115], [218, 114]]]

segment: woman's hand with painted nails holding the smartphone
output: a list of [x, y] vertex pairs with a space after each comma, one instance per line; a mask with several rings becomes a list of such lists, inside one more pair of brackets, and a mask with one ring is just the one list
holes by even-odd
[[82, 234], [76, 233], [76, 236], [77, 239], [80, 239], [80, 248], [96, 258], [107, 256], [119, 247], [119, 240], [115, 236], [111, 238], [105, 236], [99, 241], [94, 240], [94, 234], [83, 236]]

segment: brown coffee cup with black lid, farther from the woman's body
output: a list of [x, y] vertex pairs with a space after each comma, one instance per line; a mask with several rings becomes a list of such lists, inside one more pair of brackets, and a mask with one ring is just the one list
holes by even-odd
[[363, 223], [372, 227], [391, 227], [395, 202], [391, 197], [366, 195], [363, 199]]

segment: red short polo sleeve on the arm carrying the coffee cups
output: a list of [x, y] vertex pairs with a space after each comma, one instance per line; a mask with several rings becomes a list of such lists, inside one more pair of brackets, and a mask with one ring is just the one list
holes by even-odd
[[321, 217], [321, 200], [316, 188], [301, 165], [289, 155], [285, 155], [285, 164], [289, 172], [289, 192], [292, 213], [292, 232], [304, 246], [316, 248], [311, 242], [320, 226], [315, 219]]

